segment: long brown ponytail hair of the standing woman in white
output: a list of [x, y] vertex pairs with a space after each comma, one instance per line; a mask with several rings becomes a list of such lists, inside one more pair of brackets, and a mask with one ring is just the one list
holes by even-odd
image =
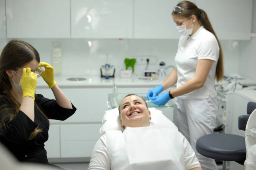
[[197, 8], [197, 5], [195, 5], [194, 3], [184, 0], [181, 1], [177, 4], [177, 7], [179, 7], [179, 9], [182, 9], [180, 11], [172, 11], [172, 15], [177, 15], [179, 17], [184, 17], [184, 18], [189, 18], [192, 15], [195, 15], [197, 17], [197, 20], [199, 21], [200, 25], [203, 25], [204, 28], [208, 31], [210, 31], [215, 38], [218, 41], [218, 45], [220, 48], [220, 56], [218, 59], [218, 63], [217, 63], [217, 67], [216, 67], [216, 74], [215, 74], [215, 78], [217, 81], [220, 81], [223, 79], [223, 75], [224, 75], [224, 68], [223, 68], [223, 52], [222, 52], [222, 48], [220, 46], [220, 41], [215, 33], [215, 31], [212, 28], [212, 25], [210, 23], [210, 20], [206, 14], [206, 12], [200, 8]]

